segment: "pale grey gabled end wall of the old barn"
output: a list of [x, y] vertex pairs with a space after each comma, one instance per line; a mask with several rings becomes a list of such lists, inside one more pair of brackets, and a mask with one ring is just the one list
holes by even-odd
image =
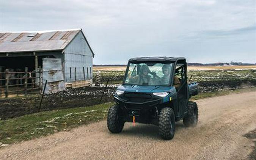
[[[91, 78], [93, 78], [93, 53], [91, 52], [81, 32], [77, 34], [73, 41], [66, 47], [66, 49], [64, 50], [64, 57], [65, 82], [74, 82], [77, 80], [90, 80]], [[83, 74], [83, 69], [85, 70], [85, 75]]]

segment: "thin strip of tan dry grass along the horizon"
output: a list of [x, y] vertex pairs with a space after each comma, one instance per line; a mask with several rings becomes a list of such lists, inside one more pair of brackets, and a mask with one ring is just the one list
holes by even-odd
[[[227, 69], [256, 69], [256, 66], [188, 66], [188, 71], [193, 70], [227, 70]], [[125, 71], [126, 66], [96, 66], [94, 71]]]

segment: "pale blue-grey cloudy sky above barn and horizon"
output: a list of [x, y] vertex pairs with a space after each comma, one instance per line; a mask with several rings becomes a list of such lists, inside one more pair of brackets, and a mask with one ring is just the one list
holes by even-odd
[[0, 0], [0, 31], [82, 28], [94, 64], [256, 63], [255, 0]]

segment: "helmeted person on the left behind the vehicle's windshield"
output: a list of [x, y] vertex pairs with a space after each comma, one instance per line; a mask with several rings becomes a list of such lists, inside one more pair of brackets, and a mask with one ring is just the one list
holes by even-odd
[[149, 73], [151, 73], [149, 70], [149, 67], [144, 64], [140, 67], [139, 75], [137, 75], [135, 77], [131, 77], [130, 81], [131, 81], [131, 83], [137, 84], [137, 85], [143, 85], [143, 83], [147, 83], [148, 85], [151, 85], [152, 79], [148, 75]]

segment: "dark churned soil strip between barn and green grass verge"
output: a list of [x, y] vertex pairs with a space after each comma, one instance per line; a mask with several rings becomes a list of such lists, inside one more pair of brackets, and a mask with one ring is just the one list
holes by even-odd
[[[83, 87], [67, 89], [58, 93], [44, 96], [41, 111], [63, 108], [85, 107], [99, 104], [104, 87]], [[113, 101], [115, 87], [107, 87], [101, 103]], [[13, 97], [0, 99], [0, 118], [8, 119], [38, 112], [41, 97]]]

